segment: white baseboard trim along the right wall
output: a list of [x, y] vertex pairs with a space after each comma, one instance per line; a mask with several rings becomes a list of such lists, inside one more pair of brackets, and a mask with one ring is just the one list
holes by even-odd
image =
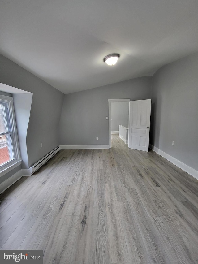
[[151, 144], [149, 144], [149, 148], [153, 149], [153, 151], [155, 151], [157, 154], [159, 154], [163, 158], [166, 158], [168, 161], [170, 161], [171, 163], [173, 163], [174, 165], [176, 165], [177, 167], [179, 167], [183, 171], [186, 171], [188, 174], [190, 174], [191, 176], [193, 176], [194, 178], [196, 178], [198, 180], [198, 171], [196, 171], [192, 167], [186, 165], [185, 163], [183, 163], [183, 162], [179, 161], [178, 159], [170, 156], [166, 152], [156, 148], [155, 146], [153, 146]]

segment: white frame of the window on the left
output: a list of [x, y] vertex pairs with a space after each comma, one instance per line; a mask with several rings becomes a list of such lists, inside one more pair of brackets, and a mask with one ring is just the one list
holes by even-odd
[[21, 156], [19, 151], [19, 141], [18, 141], [18, 135], [17, 135], [17, 129], [16, 129], [16, 121], [15, 121], [15, 112], [14, 112], [14, 105], [13, 105], [13, 97], [0, 95], [0, 104], [4, 104], [6, 106], [6, 115], [9, 115], [9, 132], [2, 132], [0, 135], [10, 134], [11, 142], [8, 144], [12, 145], [13, 150], [13, 158], [2, 165], [0, 165], [0, 177], [5, 175], [7, 172], [11, 171], [15, 167], [19, 166], [21, 164]]

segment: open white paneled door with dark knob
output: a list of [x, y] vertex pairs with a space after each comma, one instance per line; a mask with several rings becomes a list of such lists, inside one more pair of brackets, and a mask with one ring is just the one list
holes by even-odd
[[149, 151], [151, 99], [129, 102], [130, 149]]

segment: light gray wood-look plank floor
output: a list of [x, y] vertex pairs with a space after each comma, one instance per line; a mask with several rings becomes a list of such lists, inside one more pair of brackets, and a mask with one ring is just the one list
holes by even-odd
[[198, 180], [153, 151], [61, 150], [0, 195], [0, 248], [44, 264], [197, 264]]

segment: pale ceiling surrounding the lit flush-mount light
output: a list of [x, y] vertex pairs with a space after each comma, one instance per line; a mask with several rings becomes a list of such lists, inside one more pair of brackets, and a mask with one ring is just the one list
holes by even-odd
[[[197, 0], [0, 0], [0, 53], [72, 93], [196, 52], [197, 14]], [[110, 53], [114, 66], [103, 62]]]

